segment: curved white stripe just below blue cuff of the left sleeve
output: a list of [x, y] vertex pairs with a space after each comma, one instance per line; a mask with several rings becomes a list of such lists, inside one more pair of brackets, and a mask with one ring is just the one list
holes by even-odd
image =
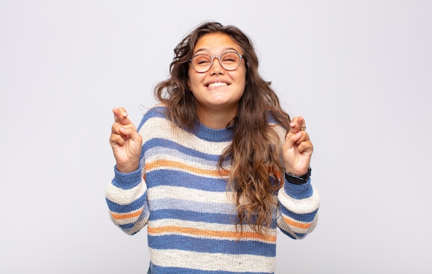
[[129, 189], [119, 188], [113, 184], [108, 184], [106, 188], [106, 197], [111, 201], [122, 206], [134, 202], [136, 199], [146, 193], [147, 186], [144, 179], [137, 186]]

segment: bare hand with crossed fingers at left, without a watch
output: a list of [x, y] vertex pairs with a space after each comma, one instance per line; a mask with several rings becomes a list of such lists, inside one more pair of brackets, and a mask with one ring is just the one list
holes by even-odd
[[110, 144], [117, 162], [117, 170], [121, 173], [131, 173], [139, 167], [142, 137], [137, 128], [128, 118], [124, 108], [113, 108], [114, 124], [112, 124]]

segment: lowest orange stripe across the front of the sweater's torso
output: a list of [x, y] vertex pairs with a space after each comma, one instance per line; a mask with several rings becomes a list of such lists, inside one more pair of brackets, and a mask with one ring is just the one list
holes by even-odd
[[246, 237], [249, 239], [263, 239], [268, 242], [276, 242], [276, 236], [271, 235], [260, 235], [255, 232], [231, 232], [231, 231], [206, 231], [204, 229], [198, 228], [186, 228], [179, 226], [161, 226], [157, 228], [148, 227], [148, 233], [157, 234], [157, 233], [186, 233], [190, 235], [200, 235], [200, 236], [208, 236], [208, 237], [226, 237], [226, 238], [234, 238], [238, 239], [239, 236]]

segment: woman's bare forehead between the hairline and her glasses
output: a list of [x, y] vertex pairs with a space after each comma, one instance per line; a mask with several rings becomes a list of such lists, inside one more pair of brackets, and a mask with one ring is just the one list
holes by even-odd
[[235, 50], [243, 54], [242, 47], [232, 37], [224, 33], [215, 32], [200, 37], [195, 44], [194, 53], [220, 54], [225, 50]]

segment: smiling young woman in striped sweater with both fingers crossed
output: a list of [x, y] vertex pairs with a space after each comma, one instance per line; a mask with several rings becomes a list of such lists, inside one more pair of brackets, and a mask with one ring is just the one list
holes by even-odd
[[273, 273], [277, 227], [300, 239], [317, 224], [304, 118], [282, 110], [251, 40], [215, 22], [177, 45], [155, 95], [138, 129], [113, 110], [112, 221], [147, 225], [148, 273]]

